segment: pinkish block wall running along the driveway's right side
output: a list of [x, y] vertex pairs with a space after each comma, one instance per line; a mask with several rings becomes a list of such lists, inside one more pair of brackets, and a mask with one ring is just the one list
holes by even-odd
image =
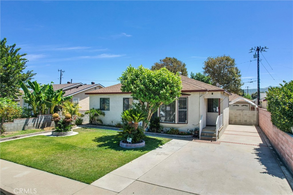
[[293, 173], [293, 135], [279, 130], [271, 122], [271, 113], [258, 108], [258, 126]]

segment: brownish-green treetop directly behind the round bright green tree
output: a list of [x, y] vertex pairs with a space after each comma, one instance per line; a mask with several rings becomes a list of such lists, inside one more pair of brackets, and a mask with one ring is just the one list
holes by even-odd
[[160, 62], [154, 63], [154, 65], [151, 67], [151, 70], [159, 70], [165, 67], [174, 74], [181, 72], [183, 76], [187, 77], [187, 69], [185, 66], [186, 64], [177, 58], [166, 57], [161, 59]]

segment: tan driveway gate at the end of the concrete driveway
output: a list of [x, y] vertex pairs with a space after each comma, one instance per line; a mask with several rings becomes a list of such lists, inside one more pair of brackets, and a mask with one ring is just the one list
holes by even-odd
[[258, 111], [229, 110], [229, 124], [258, 125]]

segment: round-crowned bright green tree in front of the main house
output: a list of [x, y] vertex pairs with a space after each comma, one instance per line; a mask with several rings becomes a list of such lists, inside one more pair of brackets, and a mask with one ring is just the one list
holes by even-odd
[[[131, 65], [122, 73], [119, 79], [122, 92], [131, 92], [134, 100], [139, 101], [142, 111], [147, 113], [147, 121], [163, 103], [169, 104], [181, 95], [181, 78], [179, 73], [173, 74], [167, 68], [149, 70], [142, 65], [134, 68]], [[143, 122], [143, 128], [147, 128]]]

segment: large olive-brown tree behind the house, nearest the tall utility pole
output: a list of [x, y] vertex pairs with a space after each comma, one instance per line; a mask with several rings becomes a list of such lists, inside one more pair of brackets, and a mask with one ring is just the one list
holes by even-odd
[[230, 56], [208, 57], [203, 67], [204, 74], [211, 77], [212, 85], [218, 82], [221, 88], [242, 95], [241, 74], [235, 59]]

